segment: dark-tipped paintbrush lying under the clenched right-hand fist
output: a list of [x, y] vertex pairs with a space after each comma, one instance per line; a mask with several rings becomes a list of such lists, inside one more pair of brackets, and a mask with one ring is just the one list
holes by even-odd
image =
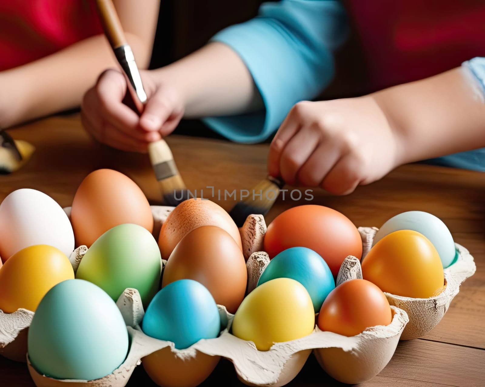
[[242, 227], [251, 214], [266, 215], [273, 207], [285, 182], [280, 177], [268, 176], [256, 185], [244, 200], [236, 203], [229, 215], [238, 227]]

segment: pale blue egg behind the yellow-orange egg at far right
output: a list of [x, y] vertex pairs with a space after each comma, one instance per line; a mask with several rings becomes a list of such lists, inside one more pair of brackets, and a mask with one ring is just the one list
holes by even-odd
[[390, 218], [377, 231], [372, 245], [375, 245], [386, 235], [398, 230], [414, 230], [423, 234], [435, 246], [443, 268], [453, 263], [456, 249], [452, 234], [441, 219], [424, 211], [407, 211]]

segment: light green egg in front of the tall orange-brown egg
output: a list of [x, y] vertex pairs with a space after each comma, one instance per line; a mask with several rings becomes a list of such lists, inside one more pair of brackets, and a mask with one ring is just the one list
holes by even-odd
[[119, 225], [91, 245], [76, 278], [96, 284], [114, 301], [126, 288], [137, 289], [146, 307], [160, 288], [161, 259], [158, 243], [146, 228]]

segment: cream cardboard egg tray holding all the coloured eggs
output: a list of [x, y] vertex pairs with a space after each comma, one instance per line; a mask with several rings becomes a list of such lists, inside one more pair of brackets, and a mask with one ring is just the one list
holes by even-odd
[[[65, 209], [69, 215], [70, 209]], [[172, 208], [152, 206], [154, 235]], [[377, 231], [375, 227], [359, 227], [363, 243], [363, 257], [372, 246]], [[247, 259], [248, 292], [258, 283], [260, 274], [269, 263], [262, 251], [266, 224], [262, 215], [250, 215], [241, 228], [244, 258]], [[238, 378], [250, 386], [283, 386], [289, 383], [303, 368], [313, 350], [319, 364], [330, 376], [343, 383], [355, 384], [371, 379], [389, 362], [399, 339], [413, 339], [424, 335], [441, 320], [458, 293], [460, 284], [475, 272], [473, 257], [456, 244], [457, 259], [445, 269], [445, 287], [442, 293], [429, 299], [413, 299], [386, 293], [392, 310], [392, 321], [387, 326], [375, 326], [364, 332], [346, 337], [332, 332], [314, 331], [301, 339], [275, 343], [269, 351], [258, 351], [251, 341], [236, 338], [230, 333], [234, 315], [219, 306], [221, 333], [216, 339], [200, 340], [189, 348], [178, 350], [169, 341], [153, 339], [140, 329], [144, 310], [137, 290], [127, 289], [117, 305], [125, 319], [130, 336], [129, 354], [123, 364], [104, 378], [80, 380], [56, 380], [35, 371], [28, 361], [29, 371], [37, 386], [125, 386], [134, 368], [145, 356], [156, 356], [160, 366], [148, 371], [160, 385], [195, 386], [213, 371], [220, 357], [229, 359]], [[85, 246], [78, 247], [70, 260], [77, 269]], [[360, 261], [352, 256], [345, 258], [337, 277], [337, 285], [347, 279], [362, 278]], [[33, 313], [18, 309], [11, 314], [0, 311], [0, 353], [15, 360], [26, 359], [27, 329]], [[156, 354], [155, 354], [156, 353]], [[164, 366], [163, 366], [164, 365]]]

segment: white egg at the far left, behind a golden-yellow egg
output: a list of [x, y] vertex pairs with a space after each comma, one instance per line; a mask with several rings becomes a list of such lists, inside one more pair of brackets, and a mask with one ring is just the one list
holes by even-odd
[[50, 196], [30, 188], [16, 190], [0, 204], [0, 256], [8, 259], [35, 244], [48, 244], [67, 257], [74, 232], [64, 210]]

